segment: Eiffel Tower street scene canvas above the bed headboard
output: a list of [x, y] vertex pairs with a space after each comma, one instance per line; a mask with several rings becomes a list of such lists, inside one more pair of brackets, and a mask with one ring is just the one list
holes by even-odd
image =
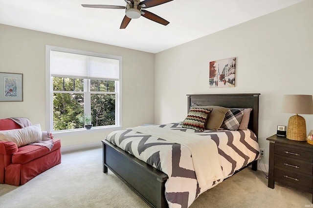
[[210, 62], [209, 87], [235, 87], [236, 57]]

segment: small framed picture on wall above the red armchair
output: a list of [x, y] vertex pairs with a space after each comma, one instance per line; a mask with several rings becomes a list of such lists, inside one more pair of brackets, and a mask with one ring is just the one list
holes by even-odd
[[23, 74], [0, 72], [0, 102], [23, 101]]

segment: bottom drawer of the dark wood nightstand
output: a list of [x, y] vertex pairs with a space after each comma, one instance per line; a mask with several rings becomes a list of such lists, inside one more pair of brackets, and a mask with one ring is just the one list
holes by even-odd
[[312, 188], [312, 177], [305, 176], [295, 171], [288, 171], [275, 167], [274, 177], [289, 183], [293, 183], [294, 185]]

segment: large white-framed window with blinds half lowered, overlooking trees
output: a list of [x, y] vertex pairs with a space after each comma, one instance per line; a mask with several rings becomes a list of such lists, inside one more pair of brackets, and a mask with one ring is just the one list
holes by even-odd
[[88, 116], [92, 131], [120, 129], [121, 65], [119, 56], [47, 45], [47, 129], [82, 133]]

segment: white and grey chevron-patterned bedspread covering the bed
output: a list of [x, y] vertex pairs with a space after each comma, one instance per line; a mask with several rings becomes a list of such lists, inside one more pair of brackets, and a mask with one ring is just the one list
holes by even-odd
[[[149, 129], [150, 132], [144, 132], [145, 129]], [[170, 136], [163, 139], [165, 134]], [[189, 135], [192, 135], [193, 139]], [[169, 208], [188, 208], [201, 193], [260, 158], [257, 139], [249, 129], [200, 132], [183, 128], [180, 123], [171, 123], [113, 131], [106, 136], [106, 140], [168, 175], [165, 198]], [[200, 144], [200, 147], [191, 145], [191, 140]], [[200, 161], [205, 161], [205, 165], [201, 165]], [[200, 185], [202, 179], [199, 180], [199, 177], [203, 176], [199, 175], [201, 172], [198, 173], [198, 168], [207, 166], [210, 167], [209, 172], [222, 169], [222, 176], [218, 176], [220, 172], [213, 173], [217, 179], [202, 186]], [[210, 177], [214, 178], [212, 175]], [[206, 179], [202, 180], [201, 184], [206, 184], [205, 181]]]

